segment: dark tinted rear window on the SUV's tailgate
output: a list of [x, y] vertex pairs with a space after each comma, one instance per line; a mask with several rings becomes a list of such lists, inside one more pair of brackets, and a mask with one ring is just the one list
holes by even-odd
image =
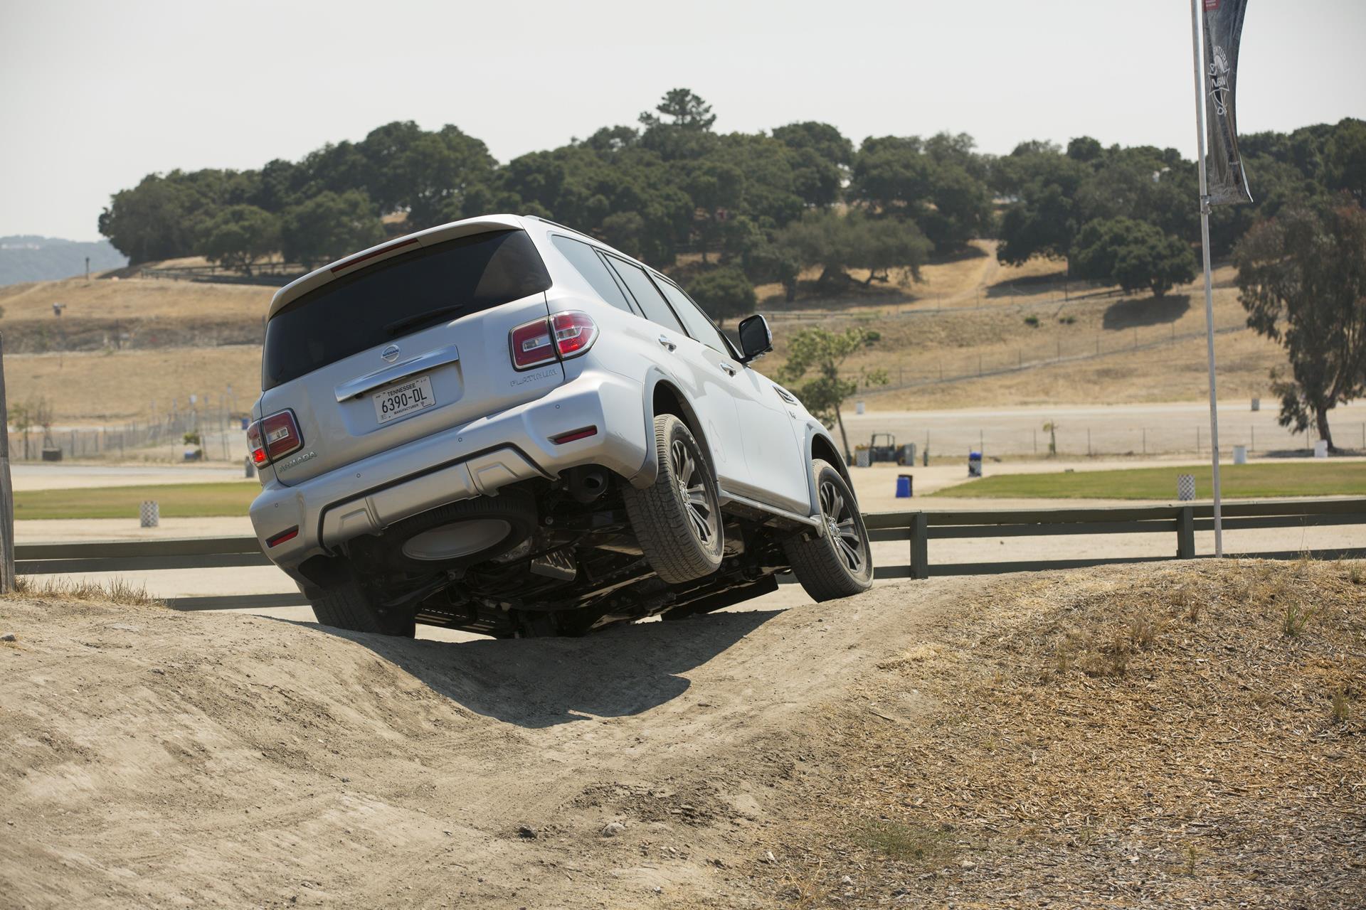
[[[549, 287], [550, 276], [525, 231], [477, 233], [385, 259], [310, 291], [272, 317], [261, 357], [262, 389]], [[425, 314], [432, 319], [423, 321]]]

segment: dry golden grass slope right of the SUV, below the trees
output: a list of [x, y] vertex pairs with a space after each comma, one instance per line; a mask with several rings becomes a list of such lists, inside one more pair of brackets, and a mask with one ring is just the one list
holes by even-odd
[[[971, 262], [971, 261], [970, 261]], [[994, 259], [990, 259], [994, 262]], [[1035, 263], [1038, 265], [1038, 263]], [[1046, 263], [1040, 265], [1040, 267]], [[1268, 374], [1285, 363], [1276, 344], [1246, 329], [1246, 312], [1238, 303], [1233, 271], [1216, 271], [1214, 325], [1233, 332], [1216, 338], [1220, 392], [1235, 397], [1266, 397]], [[1004, 285], [992, 285], [999, 291]], [[921, 385], [882, 393], [861, 393], [870, 409], [936, 409], [1012, 404], [1134, 404], [1190, 401], [1208, 394], [1205, 363], [1205, 312], [1199, 287], [1179, 288], [1162, 300], [1124, 297], [1106, 289], [1074, 287], [1061, 300], [1061, 288], [1048, 282], [1018, 281], [1018, 297], [996, 293], [981, 310], [896, 317], [896, 307], [851, 307], [840, 317], [777, 319], [776, 370], [785, 355], [785, 341], [802, 327], [821, 325], [840, 330], [861, 325], [881, 334], [870, 351], [851, 357], [850, 375], [882, 368], [893, 386], [940, 377], [968, 375], [978, 370], [1035, 368], [1001, 375], [968, 378], [952, 383]], [[960, 306], [971, 306], [971, 300]], [[1014, 303], [1014, 306], [1012, 306]], [[921, 308], [921, 307], [912, 307]], [[1035, 326], [1037, 327], [1033, 327]], [[1177, 340], [1172, 341], [1173, 336]], [[1183, 337], [1184, 336], [1184, 337]], [[1135, 342], [1143, 345], [1135, 349]], [[1157, 347], [1147, 347], [1157, 345]], [[1105, 352], [1100, 359], [1063, 357]]]

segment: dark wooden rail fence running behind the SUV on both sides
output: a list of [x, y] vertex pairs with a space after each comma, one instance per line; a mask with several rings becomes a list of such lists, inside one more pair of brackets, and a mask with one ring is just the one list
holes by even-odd
[[[1270, 499], [1224, 503], [1224, 529], [1310, 528], [1366, 524], [1366, 498]], [[1101, 509], [996, 509], [984, 512], [874, 512], [863, 516], [874, 542], [907, 544], [904, 563], [880, 565], [878, 578], [989, 574], [1075, 569], [1115, 562], [1157, 562], [1195, 557], [1195, 532], [1214, 527], [1209, 505], [1108, 506]], [[1172, 557], [1104, 557], [944, 562], [932, 565], [930, 540], [964, 538], [1034, 538], [1111, 533], [1167, 533]], [[1305, 550], [1238, 553], [1233, 555], [1288, 559]], [[1320, 558], [1366, 557], [1366, 547], [1309, 551]], [[187, 538], [167, 540], [105, 540], [92, 543], [20, 543], [15, 546], [16, 574], [85, 574], [94, 572], [154, 572], [161, 569], [221, 569], [266, 566], [255, 538]], [[302, 604], [298, 593], [220, 595], [173, 598], [179, 610], [261, 608]]]

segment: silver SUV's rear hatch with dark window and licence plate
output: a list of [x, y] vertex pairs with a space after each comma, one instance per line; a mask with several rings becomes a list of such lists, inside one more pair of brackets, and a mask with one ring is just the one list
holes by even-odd
[[512, 367], [511, 330], [548, 312], [550, 278], [526, 232], [418, 239], [354, 271], [348, 263], [376, 254], [332, 266], [343, 274], [266, 322], [261, 412], [294, 411], [303, 437], [275, 464], [281, 483], [463, 426], [564, 381], [559, 363]]

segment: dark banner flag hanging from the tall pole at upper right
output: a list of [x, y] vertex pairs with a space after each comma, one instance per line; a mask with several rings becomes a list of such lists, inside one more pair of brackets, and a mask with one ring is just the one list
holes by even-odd
[[1238, 154], [1233, 90], [1238, 87], [1238, 42], [1247, 0], [1202, 0], [1205, 5], [1205, 130], [1209, 134], [1209, 203], [1251, 202]]

